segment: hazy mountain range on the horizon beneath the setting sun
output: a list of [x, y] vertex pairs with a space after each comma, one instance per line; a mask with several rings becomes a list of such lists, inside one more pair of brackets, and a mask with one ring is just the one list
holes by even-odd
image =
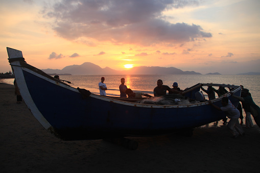
[[158, 67], [158, 66], [139, 66], [128, 70], [114, 70], [109, 67], [101, 68], [100, 66], [85, 62], [81, 65], [69, 65], [63, 69], [42, 69], [48, 74], [71, 74], [71, 75], [201, 75], [195, 71], [182, 71], [175, 67]]

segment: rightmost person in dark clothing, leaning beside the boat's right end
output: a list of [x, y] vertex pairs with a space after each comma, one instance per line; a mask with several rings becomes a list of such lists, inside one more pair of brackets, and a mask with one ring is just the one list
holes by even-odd
[[232, 92], [231, 95], [242, 102], [242, 107], [246, 112], [246, 128], [253, 127], [253, 122], [250, 114], [253, 115], [255, 122], [260, 127], [260, 108], [254, 103], [249, 90], [243, 88], [241, 92], [241, 97], [233, 95]]

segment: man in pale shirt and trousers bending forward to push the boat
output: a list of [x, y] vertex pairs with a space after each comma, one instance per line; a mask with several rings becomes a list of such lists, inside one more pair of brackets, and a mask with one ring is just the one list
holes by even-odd
[[239, 123], [240, 112], [237, 108], [234, 107], [234, 105], [232, 105], [230, 100], [228, 100], [228, 97], [225, 96], [222, 98], [221, 104], [223, 107], [221, 108], [213, 105], [211, 101], [208, 101], [208, 103], [216, 109], [224, 111], [227, 117], [230, 118], [227, 123], [227, 127], [233, 134], [233, 138], [237, 138], [239, 135], [245, 135], [245, 132]]

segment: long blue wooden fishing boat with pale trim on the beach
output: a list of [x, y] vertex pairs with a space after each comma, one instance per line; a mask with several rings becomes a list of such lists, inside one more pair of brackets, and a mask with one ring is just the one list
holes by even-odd
[[[90, 94], [84, 97], [71, 87], [27, 64], [22, 52], [7, 47], [21, 96], [41, 125], [62, 140], [103, 139], [125, 136], [152, 136], [193, 129], [226, 117], [207, 102], [188, 105], [150, 105], [136, 99]], [[201, 86], [233, 88], [225, 84], [197, 84], [185, 96], [195, 98]], [[227, 94], [229, 100], [238, 100]], [[212, 103], [221, 106], [221, 97]]]

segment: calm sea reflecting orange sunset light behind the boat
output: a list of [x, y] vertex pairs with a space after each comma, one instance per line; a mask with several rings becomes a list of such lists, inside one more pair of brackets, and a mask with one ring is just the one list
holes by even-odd
[[[104, 83], [107, 86], [106, 93], [109, 96], [120, 96], [119, 85], [121, 78], [125, 78], [125, 85], [133, 91], [143, 91], [153, 96], [153, 89], [157, 86], [157, 80], [161, 79], [163, 85], [168, 85], [172, 88], [174, 82], [177, 82], [179, 88], [184, 90], [198, 83], [215, 83], [215, 84], [230, 84], [243, 85], [249, 89], [252, 98], [256, 105], [260, 106], [260, 76], [247, 75], [67, 75], [60, 76], [60, 80], [69, 81], [70, 86], [74, 88], [84, 88], [91, 93], [99, 94], [99, 82], [101, 77], [105, 77]], [[0, 79], [0, 82], [13, 84], [14, 79]], [[66, 82], [65, 82], [66, 83]], [[204, 87], [207, 89], [207, 87]], [[218, 87], [215, 87], [218, 89]], [[228, 88], [227, 88], [228, 90]], [[229, 90], [228, 90], [229, 91]], [[207, 94], [204, 93], [207, 99]], [[217, 96], [217, 94], [216, 94]], [[245, 117], [245, 112], [243, 111]], [[252, 118], [253, 120], [253, 118]], [[244, 118], [245, 123], [245, 118]], [[256, 123], [253, 120], [254, 125]], [[217, 127], [222, 125], [220, 122]], [[209, 126], [216, 126], [210, 123]], [[205, 125], [205, 127], [208, 127]]]

